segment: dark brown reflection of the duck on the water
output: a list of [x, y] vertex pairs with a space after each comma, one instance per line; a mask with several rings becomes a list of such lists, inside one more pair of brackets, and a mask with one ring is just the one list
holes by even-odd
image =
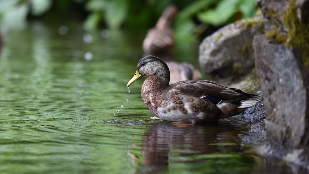
[[[221, 120], [218, 124], [182, 124], [161, 121], [155, 123], [142, 136], [143, 166], [141, 173], [158, 173], [171, 170], [171, 163], [207, 163], [216, 158], [190, 158], [205, 154], [241, 153], [244, 147], [236, 141], [239, 133], [245, 133], [247, 126], [236, 118]], [[215, 156], [215, 155], [214, 155]], [[253, 167], [254, 160], [244, 155], [246, 160], [239, 165]], [[230, 160], [230, 158], [223, 158]], [[207, 164], [206, 164], [207, 165]], [[214, 163], [213, 167], [218, 164]], [[207, 170], [205, 166], [204, 171]], [[223, 167], [223, 166], [222, 166]], [[239, 166], [238, 166], [239, 167]], [[224, 168], [224, 167], [223, 167]], [[218, 169], [220, 171], [220, 169]]]

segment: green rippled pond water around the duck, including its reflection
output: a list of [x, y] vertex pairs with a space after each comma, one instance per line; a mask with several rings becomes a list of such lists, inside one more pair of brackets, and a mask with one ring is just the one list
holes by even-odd
[[[239, 144], [247, 131], [243, 120], [179, 127], [150, 119], [140, 96], [143, 80], [127, 92], [144, 33], [105, 38], [67, 26], [65, 35], [40, 22], [3, 34], [1, 173], [254, 171], [257, 157]], [[91, 43], [83, 40], [89, 34]], [[197, 64], [197, 45], [178, 45], [174, 55]]]

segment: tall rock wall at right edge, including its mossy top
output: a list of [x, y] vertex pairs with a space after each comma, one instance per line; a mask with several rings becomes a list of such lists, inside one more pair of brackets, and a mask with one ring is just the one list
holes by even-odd
[[309, 1], [262, 0], [260, 4], [265, 35], [254, 37], [253, 48], [264, 94], [268, 153], [308, 165]]

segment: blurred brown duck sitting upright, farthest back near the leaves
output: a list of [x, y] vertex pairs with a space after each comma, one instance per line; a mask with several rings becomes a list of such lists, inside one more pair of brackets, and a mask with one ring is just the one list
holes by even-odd
[[165, 54], [175, 45], [175, 36], [171, 22], [177, 14], [173, 5], [166, 7], [154, 28], [151, 28], [143, 41], [145, 54]]

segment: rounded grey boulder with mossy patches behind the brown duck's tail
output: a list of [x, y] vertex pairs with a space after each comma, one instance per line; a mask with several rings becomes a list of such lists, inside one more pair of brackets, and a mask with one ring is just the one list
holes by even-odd
[[254, 67], [253, 37], [263, 33], [261, 16], [220, 28], [206, 37], [199, 48], [202, 70], [213, 78], [238, 77]]

